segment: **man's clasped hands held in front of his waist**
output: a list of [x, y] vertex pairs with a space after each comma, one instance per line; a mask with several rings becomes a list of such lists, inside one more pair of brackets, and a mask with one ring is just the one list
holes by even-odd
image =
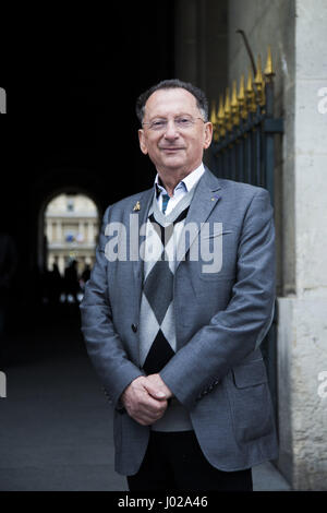
[[121, 402], [128, 414], [142, 426], [150, 426], [162, 417], [171, 391], [159, 374], [140, 375], [124, 390]]

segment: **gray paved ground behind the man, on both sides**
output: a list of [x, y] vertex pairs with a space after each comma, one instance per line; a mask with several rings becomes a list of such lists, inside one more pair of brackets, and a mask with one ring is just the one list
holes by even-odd
[[[60, 320], [59, 320], [60, 319]], [[0, 398], [0, 490], [126, 490], [113, 470], [112, 416], [88, 361], [76, 315], [44, 313], [7, 349], [7, 398]], [[254, 468], [254, 488], [289, 490], [270, 464]]]

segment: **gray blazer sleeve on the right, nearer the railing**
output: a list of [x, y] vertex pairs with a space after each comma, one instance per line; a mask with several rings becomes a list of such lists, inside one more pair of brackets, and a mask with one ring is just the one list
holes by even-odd
[[243, 218], [237, 282], [217, 312], [160, 371], [177, 398], [191, 408], [265, 337], [275, 305], [275, 229], [269, 194], [259, 188]]

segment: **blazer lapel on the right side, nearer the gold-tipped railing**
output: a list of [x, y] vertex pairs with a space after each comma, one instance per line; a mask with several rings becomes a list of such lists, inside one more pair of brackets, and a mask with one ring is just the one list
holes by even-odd
[[[211, 171], [209, 171], [208, 168], [206, 168], [204, 175], [195, 187], [196, 190], [194, 191], [194, 196], [190, 205], [177, 251], [177, 267], [180, 262], [184, 260], [186, 252], [198, 236], [202, 225], [207, 220], [213, 208], [216, 207], [221, 198], [221, 186], [219, 184], [219, 180], [211, 174]], [[190, 236], [185, 238], [186, 225], [191, 223], [194, 229], [190, 230]]]

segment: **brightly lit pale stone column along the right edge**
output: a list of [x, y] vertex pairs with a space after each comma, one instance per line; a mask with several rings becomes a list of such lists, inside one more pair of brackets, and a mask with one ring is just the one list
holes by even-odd
[[278, 300], [279, 466], [296, 490], [327, 490], [326, 26], [326, 0], [296, 0], [294, 200], [283, 205], [294, 218], [295, 283]]

